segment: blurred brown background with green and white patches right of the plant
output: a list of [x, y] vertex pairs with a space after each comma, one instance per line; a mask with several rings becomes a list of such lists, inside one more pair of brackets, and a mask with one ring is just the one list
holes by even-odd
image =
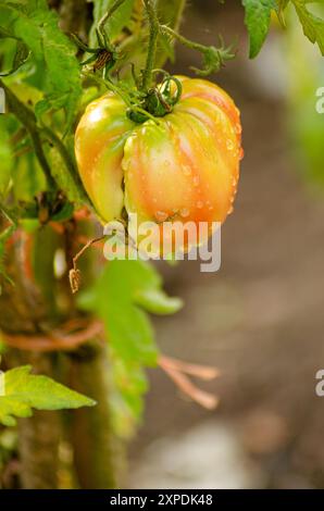
[[[217, 367], [203, 387], [213, 412], [185, 400], [160, 370], [150, 373], [146, 414], [130, 446], [129, 488], [323, 488], [324, 86], [320, 51], [294, 18], [248, 61], [237, 1], [192, 0], [183, 32], [238, 41], [215, 80], [241, 111], [245, 159], [234, 214], [222, 229], [222, 267], [162, 265], [184, 310], [155, 320], [163, 353]], [[174, 70], [195, 52], [177, 48]], [[199, 59], [199, 55], [197, 55]]]

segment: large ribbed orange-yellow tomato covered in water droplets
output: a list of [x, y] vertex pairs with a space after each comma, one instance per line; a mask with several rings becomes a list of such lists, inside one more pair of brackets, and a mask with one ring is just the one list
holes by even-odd
[[112, 94], [91, 102], [76, 129], [84, 186], [104, 222], [123, 208], [138, 222], [224, 222], [239, 177], [239, 111], [216, 85], [177, 77], [182, 97], [157, 122], [136, 124]]

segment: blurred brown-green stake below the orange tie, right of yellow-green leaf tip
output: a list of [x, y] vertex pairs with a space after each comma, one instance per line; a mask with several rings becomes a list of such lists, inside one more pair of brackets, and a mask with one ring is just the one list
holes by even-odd
[[75, 410], [71, 431], [75, 471], [82, 488], [116, 488], [115, 438], [108, 404], [109, 364], [105, 348], [87, 345], [71, 357], [71, 385], [97, 401], [91, 411]]

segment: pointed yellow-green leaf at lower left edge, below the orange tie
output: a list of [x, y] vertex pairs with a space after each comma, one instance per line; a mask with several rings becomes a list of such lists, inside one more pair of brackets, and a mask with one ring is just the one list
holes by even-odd
[[62, 410], [92, 407], [96, 402], [47, 376], [34, 376], [32, 367], [15, 367], [0, 375], [0, 422], [15, 425], [14, 417], [32, 416], [32, 409]]

